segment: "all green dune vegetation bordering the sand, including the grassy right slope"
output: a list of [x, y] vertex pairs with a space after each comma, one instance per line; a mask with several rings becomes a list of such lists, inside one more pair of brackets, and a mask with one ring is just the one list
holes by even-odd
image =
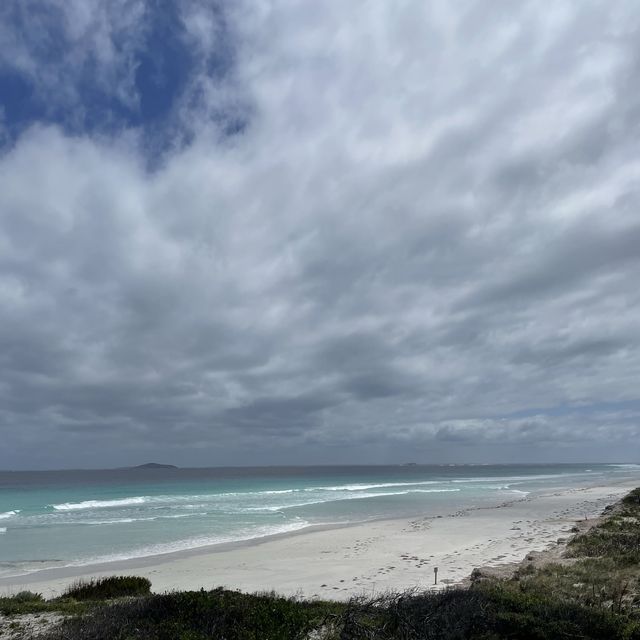
[[[143, 578], [107, 578], [74, 585], [57, 601], [4, 598], [0, 611], [66, 606], [78, 614], [48, 640], [640, 640], [640, 489], [575, 536], [557, 562], [524, 564], [506, 580], [476, 572], [466, 590], [349, 603], [148, 592]], [[85, 608], [69, 609], [74, 603]]]

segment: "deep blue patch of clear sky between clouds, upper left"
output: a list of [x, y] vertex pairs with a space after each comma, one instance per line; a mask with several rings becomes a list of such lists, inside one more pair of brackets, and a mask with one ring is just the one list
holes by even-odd
[[[233, 67], [231, 36], [220, 15], [216, 50], [207, 59], [198, 59], [175, 0], [149, 0], [139, 31], [113, 35], [116, 53], [126, 56], [122, 65], [131, 77], [111, 76], [96, 55], [73, 56], [78, 46], [71, 41], [61, 10], [44, 0], [18, 4], [8, 2], [0, 18], [33, 61], [37, 73], [12, 65], [10, 56], [0, 57], [0, 115], [5, 141], [15, 141], [30, 125], [56, 124], [70, 134], [114, 134], [136, 129], [151, 156], [187, 141], [189, 132], [177, 132], [177, 110], [194, 105], [194, 77], [207, 74], [225, 82]], [[6, 52], [5, 52], [6, 54]], [[80, 59], [80, 66], [72, 67]], [[105, 82], [107, 76], [111, 82]], [[52, 90], [43, 78], [58, 78], [60, 91]], [[123, 91], [123, 85], [126, 91]], [[246, 125], [242, 110], [213, 113], [221, 122], [224, 135], [234, 135]]]

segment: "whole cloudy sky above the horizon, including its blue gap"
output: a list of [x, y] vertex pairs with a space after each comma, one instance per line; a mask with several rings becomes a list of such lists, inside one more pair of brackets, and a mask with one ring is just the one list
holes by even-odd
[[633, 461], [636, 0], [3, 0], [0, 468]]

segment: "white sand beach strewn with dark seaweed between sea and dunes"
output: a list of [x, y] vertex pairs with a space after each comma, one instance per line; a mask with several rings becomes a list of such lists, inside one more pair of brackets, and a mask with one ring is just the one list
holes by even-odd
[[251, 544], [42, 571], [1, 580], [0, 593], [29, 589], [50, 597], [80, 577], [114, 574], [146, 576], [155, 592], [222, 586], [345, 599], [389, 589], [441, 588], [462, 582], [476, 567], [518, 562], [529, 551], [544, 550], [567, 537], [576, 520], [597, 517], [637, 484], [628, 480], [437, 517], [307, 530]]

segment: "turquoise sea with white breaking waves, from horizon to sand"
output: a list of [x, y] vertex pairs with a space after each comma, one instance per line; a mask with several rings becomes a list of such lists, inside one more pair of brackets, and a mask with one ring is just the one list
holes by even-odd
[[0, 577], [251, 540], [315, 524], [445, 515], [630, 475], [640, 475], [640, 466], [0, 472]]

